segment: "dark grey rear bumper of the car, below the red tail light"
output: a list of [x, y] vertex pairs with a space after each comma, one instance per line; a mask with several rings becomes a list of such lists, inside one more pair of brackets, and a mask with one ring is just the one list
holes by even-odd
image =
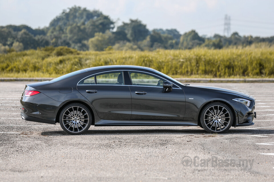
[[31, 97], [22, 95], [21, 117], [27, 121], [54, 124], [59, 106], [62, 102], [55, 101], [43, 93]]

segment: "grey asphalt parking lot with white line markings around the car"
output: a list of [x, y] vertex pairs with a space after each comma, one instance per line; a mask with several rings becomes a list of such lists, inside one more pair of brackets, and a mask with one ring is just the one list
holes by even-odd
[[0, 181], [273, 181], [274, 84], [204, 83], [250, 94], [255, 125], [212, 134], [200, 127], [93, 127], [24, 121], [29, 82], [0, 82]]

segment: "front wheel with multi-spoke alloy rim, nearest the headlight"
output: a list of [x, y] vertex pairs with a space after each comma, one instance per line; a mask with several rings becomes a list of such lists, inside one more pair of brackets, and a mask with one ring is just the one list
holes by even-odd
[[227, 105], [213, 102], [202, 110], [200, 122], [209, 133], [224, 133], [233, 123], [233, 113]]

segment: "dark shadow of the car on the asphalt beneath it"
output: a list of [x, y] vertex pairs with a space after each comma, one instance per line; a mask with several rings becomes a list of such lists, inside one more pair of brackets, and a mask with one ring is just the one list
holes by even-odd
[[[207, 133], [204, 129], [119, 129], [119, 130], [88, 130], [81, 135], [213, 135]], [[217, 135], [264, 135], [274, 134], [271, 129], [230, 129], [226, 133]], [[63, 130], [60, 131], [45, 131], [41, 135], [70, 135]]]

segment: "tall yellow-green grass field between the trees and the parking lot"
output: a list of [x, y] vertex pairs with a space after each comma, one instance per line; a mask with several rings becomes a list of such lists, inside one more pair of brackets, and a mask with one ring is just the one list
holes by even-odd
[[103, 65], [138, 65], [177, 78], [273, 78], [273, 49], [77, 51], [67, 47], [0, 54], [0, 77], [58, 77]]

